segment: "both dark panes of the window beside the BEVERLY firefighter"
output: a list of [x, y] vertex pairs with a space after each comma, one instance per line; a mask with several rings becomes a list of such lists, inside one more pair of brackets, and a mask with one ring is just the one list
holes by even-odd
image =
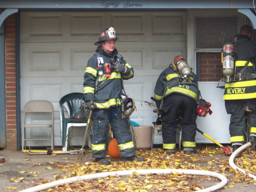
[[[236, 17], [196, 18], [196, 48], [222, 48], [236, 34]], [[200, 53], [200, 77], [199, 81], [219, 81], [223, 77], [220, 53]]]

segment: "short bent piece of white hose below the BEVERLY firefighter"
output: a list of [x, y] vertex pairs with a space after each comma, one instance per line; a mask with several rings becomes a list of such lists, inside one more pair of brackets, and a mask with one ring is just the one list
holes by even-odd
[[247, 176], [249, 176], [249, 177], [252, 177], [254, 180], [256, 180], [256, 176], [255, 176], [255, 175], [246, 172], [245, 170], [239, 168], [238, 166], [236, 166], [236, 165], [234, 164], [234, 159], [236, 158], [236, 156], [237, 156], [240, 152], [242, 152], [243, 150], [245, 150], [246, 148], [248, 148], [248, 147], [250, 147], [250, 146], [252, 146], [252, 143], [251, 143], [251, 142], [248, 142], [248, 143], [242, 145], [241, 147], [239, 147], [237, 150], [235, 150], [235, 151], [232, 153], [232, 155], [229, 157], [228, 163], [229, 163], [229, 165], [230, 165], [234, 170], [240, 170], [244, 175], [247, 175]]

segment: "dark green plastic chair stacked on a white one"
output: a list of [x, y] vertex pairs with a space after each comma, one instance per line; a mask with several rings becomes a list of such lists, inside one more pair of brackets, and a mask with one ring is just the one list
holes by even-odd
[[[60, 122], [62, 130], [62, 149], [67, 151], [68, 132], [71, 127], [85, 127], [87, 119], [81, 107], [84, 105], [84, 94], [70, 93], [60, 99]], [[68, 116], [65, 116], [65, 111]], [[82, 144], [81, 144], [82, 145]]]

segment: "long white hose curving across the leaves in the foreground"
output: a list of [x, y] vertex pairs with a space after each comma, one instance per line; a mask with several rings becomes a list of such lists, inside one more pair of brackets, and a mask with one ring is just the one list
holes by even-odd
[[56, 180], [53, 182], [45, 183], [42, 185], [34, 186], [21, 192], [38, 192], [42, 190], [46, 190], [49, 188], [54, 188], [56, 186], [82, 181], [82, 180], [91, 180], [91, 179], [98, 179], [98, 178], [105, 178], [108, 176], [128, 176], [136, 172], [138, 175], [142, 174], [172, 174], [173, 172], [177, 172], [179, 174], [188, 174], [188, 175], [200, 175], [200, 176], [210, 176], [221, 180], [220, 183], [211, 186], [209, 188], [205, 188], [202, 190], [198, 190], [197, 192], [212, 192], [218, 189], [223, 188], [227, 183], [228, 180], [222, 174], [206, 171], [206, 170], [188, 170], [188, 169], [141, 169], [141, 170], [126, 170], [126, 171], [112, 171], [112, 172], [102, 172], [102, 173], [95, 173], [95, 174], [88, 174], [83, 176], [76, 176], [71, 178], [66, 178], [62, 180]]

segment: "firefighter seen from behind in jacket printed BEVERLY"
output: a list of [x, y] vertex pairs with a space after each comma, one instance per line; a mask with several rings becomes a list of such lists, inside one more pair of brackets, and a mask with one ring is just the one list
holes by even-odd
[[[226, 111], [231, 114], [229, 131], [233, 151], [244, 142], [246, 131], [244, 107], [246, 105], [252, 110], [250, 140], [256, 142], [256, 72], [254, 62], [256, 44], [251, 41], [251, 37], [252, 27], [244, 25], [240, 29], [240, 34], [237, 34], [232, 40], [232, 44], [236, 48], [236, 68], [234, 78], [225, 84], [224, 100]], [[223, 60], [225, 59], [223, 56]]]

